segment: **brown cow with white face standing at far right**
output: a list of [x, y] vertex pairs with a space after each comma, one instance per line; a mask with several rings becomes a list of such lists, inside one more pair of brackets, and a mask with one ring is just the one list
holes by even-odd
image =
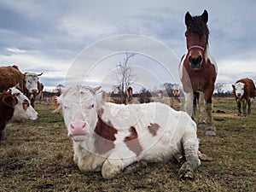
[[[236, 81], [236, 84], [232, 84], [233, 94], [236, 98], [238, 116], [241, 115], [241, 103], [243, 116], [246, 116], [247, 113], [251, 113], [251, 102], [255, 97], [255, 84], [252, 79], [240, 79]], [[248, 108], [247, 108], [248, 104]], [[247, 111], [246, 111], [247, 109]]]

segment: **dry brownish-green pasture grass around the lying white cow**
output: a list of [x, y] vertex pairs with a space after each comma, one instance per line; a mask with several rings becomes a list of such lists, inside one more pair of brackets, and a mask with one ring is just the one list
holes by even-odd
[[256, 191], [256, 105], [244, 118], [237, 117], [234, 98], [213, 104], [218, 136], [198, 130], [201, 153], [213, 160], [202, 161], [192, 181], [177, 177], [176, 162], [148, 164], [111, 180], [79, 172], [61, 114], [37, 104], [39, 119], [14, 123], [0, 141], [0, 191]]

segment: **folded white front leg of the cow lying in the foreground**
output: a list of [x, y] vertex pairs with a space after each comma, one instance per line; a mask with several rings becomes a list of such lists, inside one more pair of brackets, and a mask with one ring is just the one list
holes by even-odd
[[[122, 154], [125, 154], [122, 156]], [[124, 173], [127, 166], [132, 165], [137, 162], [136, 154], [129, 151], [129, 149], [123, 148], [118, 152], [113, 152], [110, 154], [107, 160], [105, 160], [102, 166], [102, 177], [113, 178], [118, 177]]]

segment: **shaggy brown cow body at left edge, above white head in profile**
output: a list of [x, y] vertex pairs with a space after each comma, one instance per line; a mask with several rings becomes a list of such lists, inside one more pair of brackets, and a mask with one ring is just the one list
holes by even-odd
[[17, 66], [0, 67], [0, 92], [19, 84], [23, 92], [25, 75], [20, 72]]

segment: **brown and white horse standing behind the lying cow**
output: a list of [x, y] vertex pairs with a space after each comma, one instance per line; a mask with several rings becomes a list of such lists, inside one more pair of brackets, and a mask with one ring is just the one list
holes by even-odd
[[[199, 106], [200, 116], [198, 126], [206, 126], [206, 135], [216, 136], [216, 129], [212, 122], [212, 94], [217, 76], [217, 66], [212, 60], [208, 49], [207, 10], [200, 16], [185, 15], [187, 31], [188, 52], [183, 55], [179, 65], [179, 75], [183, 84], [185, 95], [185, 111], [193, 117], [193, 92], [200, 92]], [[205, 105], [207, 112], [206, 122], [202, 115]]]

